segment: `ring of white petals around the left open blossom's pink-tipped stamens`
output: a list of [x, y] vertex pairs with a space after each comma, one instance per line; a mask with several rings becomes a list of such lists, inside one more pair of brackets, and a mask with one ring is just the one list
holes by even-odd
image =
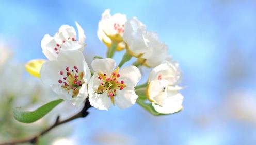
[[[42, 65], [40, 70], [40, 76], [43, 83], [50, 85], [52, 90], [59, 95], [61, 99], [71, 100], [73, 95], [73, 90], [62, 89], [59, 80], [62, 80], [63, 76], [60, 75], [60, 71], [65, 71], [67, 67], [73, 69], [76, 66], [79, 72], [84, 73], [85, 83], [79, 90], [78, 97], [80, 100], [85, 99], [88, 95], [87, 93], [87, 83], [90, 79], [90, 70], [85, 62], [84, 55], [81, 51], [60, 51], [56, 61], [47, 61]], [[73, 104], [79, 105], [79, 99], [74, 101]]]

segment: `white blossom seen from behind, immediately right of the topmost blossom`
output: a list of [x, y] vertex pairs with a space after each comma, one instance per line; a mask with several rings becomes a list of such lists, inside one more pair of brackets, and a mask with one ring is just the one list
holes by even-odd
[[149, 50], [149, 40], [146, 25], [142, 24], [137, 17], [129, 19], [124, 25], [123, 41], [128, 45], [130, 55], [139, 57]]

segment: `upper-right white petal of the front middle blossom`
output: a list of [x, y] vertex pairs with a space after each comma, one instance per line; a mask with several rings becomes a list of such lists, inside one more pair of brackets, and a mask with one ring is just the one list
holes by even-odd
[[127, 87], [135, 87], [141, 79], [141, 74], [136, 66], [126, 66], [120, 69], [120, 81], [124, 81]]

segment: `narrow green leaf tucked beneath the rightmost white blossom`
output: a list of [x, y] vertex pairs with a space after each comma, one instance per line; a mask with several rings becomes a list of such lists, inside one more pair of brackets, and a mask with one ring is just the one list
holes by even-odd
[[[155, 111], [154, 107], [152, 106], [151, 103], [146, 103], [145, 101], [143, 101], [142, 99], [140, 99], [141, 97], [139, 96], [139, 98], [137, 99], [137, 104], [139, 104], [141, 107], [143, 107], [145, 110], [147, 110], [149, 113], [151, 113], [152, 115], [155, 115], [155, 116], [160, 116], [160, 115], [170, 115], [170, 114], [162, 114], [162, 113], [159, 113], [157, 111]], [[182, 111], [182, 110], [180, 110]], [[180, 112], [178, 111], [178, 112]], [[176, 112], [176, 113], [178, 113]]]

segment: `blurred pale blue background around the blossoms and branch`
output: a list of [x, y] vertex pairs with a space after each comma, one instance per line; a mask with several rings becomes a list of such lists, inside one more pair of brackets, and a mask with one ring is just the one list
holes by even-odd
[[[183, 71], [184, 110], [155, 117], [137, 104], [126, 110], [91, 108], [87, 118], [56, 128], [41, 144], [256, 144], [256, 1], [246, 0], [1, 1], [0, 142], [37, 133], [58, 114], [77, 112], [63, 103], [44, 119], [22, 124], [11, 107], [35, 108], [56, 99], [23, 66], [45, 59], [41, 40], [61, 25], [77, 21], [85, 30], [88, 63], [105, 56], [97, 28], [107, 8], [138, 17], [169, 46]], [[116, 53], [117, 62], [122, 54]], [[143, 83], [149, 70], [140, 69]]]

